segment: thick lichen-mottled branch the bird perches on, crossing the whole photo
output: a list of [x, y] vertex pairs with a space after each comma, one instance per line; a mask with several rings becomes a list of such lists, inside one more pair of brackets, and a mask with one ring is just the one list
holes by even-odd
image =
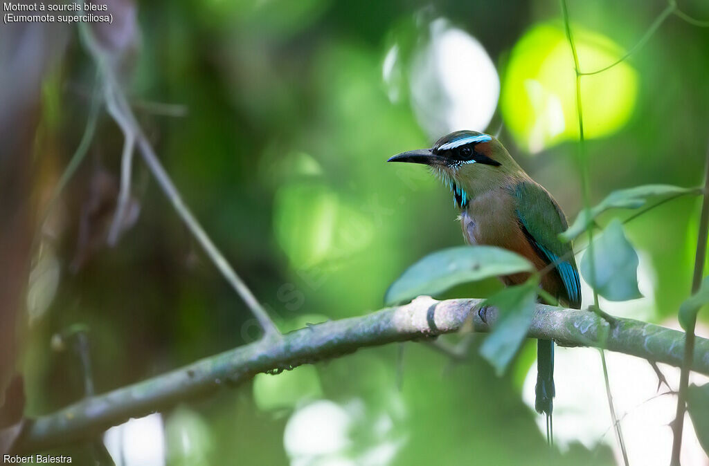
[[[308, 326], [281, 339], [263, 339], [240, 346], [35, 419], [16, 450], [43, 450], [91, 438], [130, 417], [203, 396], [221, 385], [238, 385], [257, 373], [277, 373], [368, 346], [452, 333], [469, 324], [471, 314], [474, 331], [486, 332], [495, 324], [497, 311], [487, 308], [482, 320], [478, 312], [470, 312], [481, 302], [419, 297], [408, 305]], [[528, 336], [554, 339], [562, 346], [598, 346], [602, 333], [608, 335], [605, 348], [610, 351], [675, 366], [682, 364], [681, 331], [632, 319], [615, 322], [609, 327], [608, 322], [593, 312], [537, 305]], [[600, 326], [604, 327], [601, 332]], [[692, 369], [709, 375], [709, 339], [697, 337], [694, 353]]]

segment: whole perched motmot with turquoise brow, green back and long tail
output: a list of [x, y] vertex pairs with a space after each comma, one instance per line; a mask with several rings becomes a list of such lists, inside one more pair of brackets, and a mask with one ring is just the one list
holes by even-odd
[[[571, 243], [559, 239], [568, 227], [551, 194], [520, 167], [496, 137], [456, 131], [430, 149], [397, 154], [389, 162], [424, 164], [450, 188], [468, 244], [508, 249], [542, 272], [540, 287], [560, 303], [581, 309], [581, 283]], [[501, 276], [519, 285], [530, 273]], [[547, 441], [553, 442], [554, 341], [537, 340], [535, 409], [547, 416]]]

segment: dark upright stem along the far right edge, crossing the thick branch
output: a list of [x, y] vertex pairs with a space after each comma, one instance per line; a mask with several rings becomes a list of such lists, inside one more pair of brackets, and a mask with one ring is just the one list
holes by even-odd
[[[704, 174], [704, 199], [702, 201], [702, 213], [699, 219], [699, 232], [697, 235], [697, 251], [694, 256], [694, 274], [692, 277], [692, 294], [699, 290], [704, 275], [704, 261], [707, 251], [707, 237], [709, 236], [709, 147], [707, 148]], [[689, 368], [692, 365], [694, 356], [694, 326], [697, 323], [697, 316], [693, 314], [687, 323], [686, 337], [684, 343], [684, 362], [679, 375], [679, 394], [677, 396], [677, 411], [672, 424], [674, 440], [672, 441], [672, 466], [679, 466], [679, 454], [682, 449], [682, 431], [684, 428], [684, 411], [687, 402], [687, 387], [689, 385]]]

